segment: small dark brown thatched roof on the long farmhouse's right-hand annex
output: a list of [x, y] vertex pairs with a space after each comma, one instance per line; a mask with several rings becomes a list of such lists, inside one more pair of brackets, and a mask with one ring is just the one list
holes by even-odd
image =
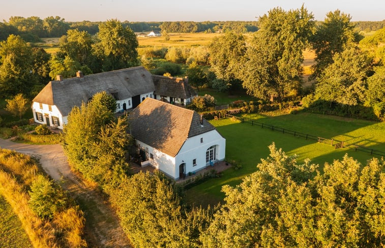
[[188, 84], [187, 78], [172, 78], [153, 75], [155, 94], [176, 98], [190, 98], [196, 96], [195, 90]]

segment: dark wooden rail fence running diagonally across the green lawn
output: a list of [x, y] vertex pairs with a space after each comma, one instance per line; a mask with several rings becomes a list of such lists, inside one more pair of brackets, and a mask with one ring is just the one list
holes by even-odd
[[258, 121], [255, 121], [255, 120], [252, 120], [249, 118], [238, 117], [238, 116], [233, 116], [233, 115], [229, 115], [229, 114], [226, 114], [225, 117], [231, 118], [234, 121], [239, 120], [242, 123], [245, 123], [245, 122], [250, 123], [252, 126], [259, 126], [261, 128], [267, 128], [267, 129], [270, 129], [272, 131], [278, 131], [278, 132], [281, 132], [283, 134], [285, 134], [285, 133], [292, 134], [294, 137], [303, 137], [306, 139], [317, 140], [318, 143], [329, 144], [331, 146], [334, 146], [335, 149], [349, 147], [350, 149], [354, 149], [355, 151], [362, 151], [362, 152], [370, 153], [370, 155], [385, 156], [385, 152], [374, 150], [374, 149], [363, 147], [363, 146], [359, 146], [356, 144], [345, 144], [345, 141], [343, 141], [343, 140], [338, 140], [338, 139], [333, 139], [333, 138], [323, 138], [323, 137], [315, 136], [315, 135], [308, 134], [308, 133], [292, 131], [292, 130], [289, 130], [289, 129], [286, 129], [283, 127], [273, 126], [273, 125], [261, 123], [261, 122], [258, 122]]

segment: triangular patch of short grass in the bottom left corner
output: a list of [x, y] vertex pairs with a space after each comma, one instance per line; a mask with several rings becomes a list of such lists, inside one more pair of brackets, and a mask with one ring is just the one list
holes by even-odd
[[33, 247], [8, 202], [0, 196], [0, 248]]

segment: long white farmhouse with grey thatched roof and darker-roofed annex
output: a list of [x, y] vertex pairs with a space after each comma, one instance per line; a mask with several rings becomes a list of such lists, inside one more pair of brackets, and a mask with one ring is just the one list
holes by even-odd
[[142, 66], [86, 76], [79, 71], [69, 79], [58, 75], [39, 92], [32, 103], [35, 122], [63, 129], [72, 108], [101, 91], [115, 98], [116, 112], [134, 109], [147, 97], [185, 105], [196, 96], [188, 78], [151, 75]]

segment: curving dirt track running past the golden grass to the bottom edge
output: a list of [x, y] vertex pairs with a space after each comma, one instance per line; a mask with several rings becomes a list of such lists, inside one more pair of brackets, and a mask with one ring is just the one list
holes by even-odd
[[47, 174], [70, 192], [85, 214], [84, 238], [88, 247], [132, 247], [105, 196], [71, 171], [60, 145], [27, 145], [0, 139], [0, 147], [39, 158]]

